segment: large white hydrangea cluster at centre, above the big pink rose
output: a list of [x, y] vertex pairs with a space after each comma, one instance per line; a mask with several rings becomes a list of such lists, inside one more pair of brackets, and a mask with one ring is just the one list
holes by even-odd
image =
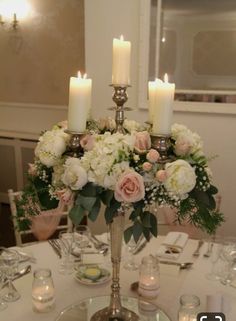
[[[94, 148], [81, 158], [81, 166], [88, 172], [88, 180], [105, 187], [113, 165], [128, 160], [134, 149], [134, 137], [106, 132], [95, 136]], [[106, 182], [105, 182], [106, 178]]]

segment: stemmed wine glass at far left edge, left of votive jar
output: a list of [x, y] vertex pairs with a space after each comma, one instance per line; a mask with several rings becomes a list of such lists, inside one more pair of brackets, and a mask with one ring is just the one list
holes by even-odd
[[19, 292], [14, 287], [12, 280], [18, 270], [19, 255], [14, 250], [4, 249], [1, 254], [1, 264], [6, 273], [8, 289], [3, 299], [8, 302], [17, 301], [20, 298]]

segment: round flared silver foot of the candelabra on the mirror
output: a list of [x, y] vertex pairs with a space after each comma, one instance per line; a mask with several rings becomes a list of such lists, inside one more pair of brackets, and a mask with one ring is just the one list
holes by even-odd
[[121, 307], [117, 313], [113, 313], [114, 311], [107, 307], [105, 309], [97, 311], [90, 321], [139, 321], [140, 318], [136, 313], [130, 311], [126, 308]]

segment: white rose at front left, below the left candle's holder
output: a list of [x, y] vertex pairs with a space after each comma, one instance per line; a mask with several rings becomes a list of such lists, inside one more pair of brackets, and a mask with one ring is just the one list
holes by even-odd
[[68, 158], [62, 182], [72, 190], [79, 190], [88, 182], [86, 170], [80, 165], [78, 158]]

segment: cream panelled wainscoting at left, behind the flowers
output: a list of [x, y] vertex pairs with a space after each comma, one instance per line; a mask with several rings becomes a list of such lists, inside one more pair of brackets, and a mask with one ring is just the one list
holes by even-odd
[[0, 202], [26, 183], [39, 134], [66, 117], [66, 106], [0, 102]]

